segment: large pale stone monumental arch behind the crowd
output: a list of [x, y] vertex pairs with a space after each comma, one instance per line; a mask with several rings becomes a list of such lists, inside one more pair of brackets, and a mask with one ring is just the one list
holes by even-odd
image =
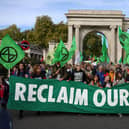
[[123, 56], [119, 41], [118, 27], [123, 31], [129, 28], [129, 18], [116, 10], [69, 10], [66, 13], [68, 23], [68, 44], [71, 46], [73, 35], [76, 38], [77, 51], [82, 51], [82, 42], [88, 32], [98, 31], [108, 40], [110, 61], [118, 63]]

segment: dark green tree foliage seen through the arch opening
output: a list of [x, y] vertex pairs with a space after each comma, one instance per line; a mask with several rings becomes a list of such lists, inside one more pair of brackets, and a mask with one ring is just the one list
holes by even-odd
[[96, 32], [91, 32], [87, 34], [83, 41], [83, 56], [84, 60], [87, 59], [88, 56], [97, 56], [101, 55], [102, 43], [101, 36], [97, 35]]

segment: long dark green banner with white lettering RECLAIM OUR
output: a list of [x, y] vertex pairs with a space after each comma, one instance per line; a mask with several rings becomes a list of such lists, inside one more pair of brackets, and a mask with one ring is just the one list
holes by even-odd
[[129, 84], [99, 88], [81, 82], [10, 77], [9, 109], [129, 113]]

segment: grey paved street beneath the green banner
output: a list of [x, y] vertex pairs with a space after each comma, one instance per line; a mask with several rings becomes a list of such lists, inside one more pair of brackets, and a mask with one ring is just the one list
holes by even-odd
[[128, 129], [129, 115], [92, 115], [72, 113], [24, 112], [18, 119], [18, 111], [9, 111], [14, 129]]

